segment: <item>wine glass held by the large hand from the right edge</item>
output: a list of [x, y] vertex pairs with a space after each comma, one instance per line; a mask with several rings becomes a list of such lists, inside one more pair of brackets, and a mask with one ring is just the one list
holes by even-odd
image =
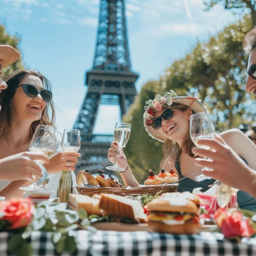
[[[204, 148], [207, 150], [211, 150], [211, 148], [207, 146], [198, 145], [199, 139], [214, 139], [215, 128], [212, 122], [211, 117], [209, 116], [209, 112], [203, 113], [195, 113], [190, 116], [190, 137], [193, 143], [198, 148]], [[207, 159], [204, 157], [204, 159]], [[210, 159], [208, 159], [210, 160]], [[203, 170], [212, 171], [211, 168], [205, 167]], [[197, 181], [208, 180], [210, 177], [205, 176], [204, 174], [198, 175], [195, 177]]]

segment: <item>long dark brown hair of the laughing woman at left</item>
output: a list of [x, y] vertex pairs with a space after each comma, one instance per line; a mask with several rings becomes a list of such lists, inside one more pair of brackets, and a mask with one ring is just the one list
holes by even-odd
[[[0, 140], [3, 140], [3, 138], [9, 137], [12, 132], [12, 111], [11, 111], [11, 101], [12, 97], [15, 95], [15, 92], [17, 87], [19, 86], [20, 82], [26, 75], [32, 75], [37, 76], [39, 79], [41, 79], [44, 88], [46, 90], [52, 90], [52, 85], [49, 82], [49, 80], [43, 76], [41, 73], [39, 73], [37, 70], [22, 70], [17, 71], [15, 73], [12, 73], [11, 75], [7, 76], [4, 81], [7, 84], [6, 90], [3, 90], [2, 93], [0, 93], [0, 99], [1, 99], [1, 111], [0, 111]], [[55, 109], [53, 101], [46, 103], [46, 106], [42, 112], [41, 119], [32, 122], [30, 126], [30, 133], [33, 136], [35, 132], [35, 128], [38, 125], [52, 125], [55, 126]]]

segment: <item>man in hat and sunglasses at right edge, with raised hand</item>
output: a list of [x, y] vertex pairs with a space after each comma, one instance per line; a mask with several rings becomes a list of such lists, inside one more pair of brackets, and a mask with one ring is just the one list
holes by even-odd
[[[256, 96], [256, 27], [245, 36], [243, 48], [249, 55], [245, 91]], [[213, 171], [203, 171], [204, 175], [220, 180], [228, 186], [244, 190], [256, 198], [256, 168], [247, 166], [218, 135], [215, 135], [215, 140], [201, 139], [198, 141], [198, 145], [206, 145], [215, 150], [215, 152], [203, 148], [193, 148], [192, 150], [195, 155], [212, 159], [212, 162], [202, 158], [195, 159], [195, 164], [198, 166], [212, 166]], [[253, 144], [250, 148], [254, 154], [255, 147]], [[245, 148], [244, 150], [250, 149]]]

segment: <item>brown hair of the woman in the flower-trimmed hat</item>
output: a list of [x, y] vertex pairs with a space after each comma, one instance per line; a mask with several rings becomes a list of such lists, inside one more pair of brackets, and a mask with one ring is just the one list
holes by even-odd
[[[179, 103], [173, 103], [168, 108], [177, 109], [185, 112], [189, 107], [181, 105]], [[194, 113], [196, 112], [192, 110], [192, 114]], [[190, 157], [195, 157], [195, 155], [192, 153], [192, 148], [194, 147], [195, 144], [192, 142], [189, 132], [181, 143], [181, 147], [177, 142], [167, 139], [166, 142], [163, 144], [163, 159], [161, 160], [160, 167], [163, 168], [169, 156], [171, 156], [174, 160], [178, 160], [180, 158], [181, 151], [184, 151]]]

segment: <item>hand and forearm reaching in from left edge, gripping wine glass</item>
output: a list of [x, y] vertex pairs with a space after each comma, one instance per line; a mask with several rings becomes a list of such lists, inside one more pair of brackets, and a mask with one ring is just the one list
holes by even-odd
[[0, 180], [30, 180], [42, 177], [41, 167], [34, 160], [49, 163], [49, 159], [42, 154], [23, 152], [0, 160]]

